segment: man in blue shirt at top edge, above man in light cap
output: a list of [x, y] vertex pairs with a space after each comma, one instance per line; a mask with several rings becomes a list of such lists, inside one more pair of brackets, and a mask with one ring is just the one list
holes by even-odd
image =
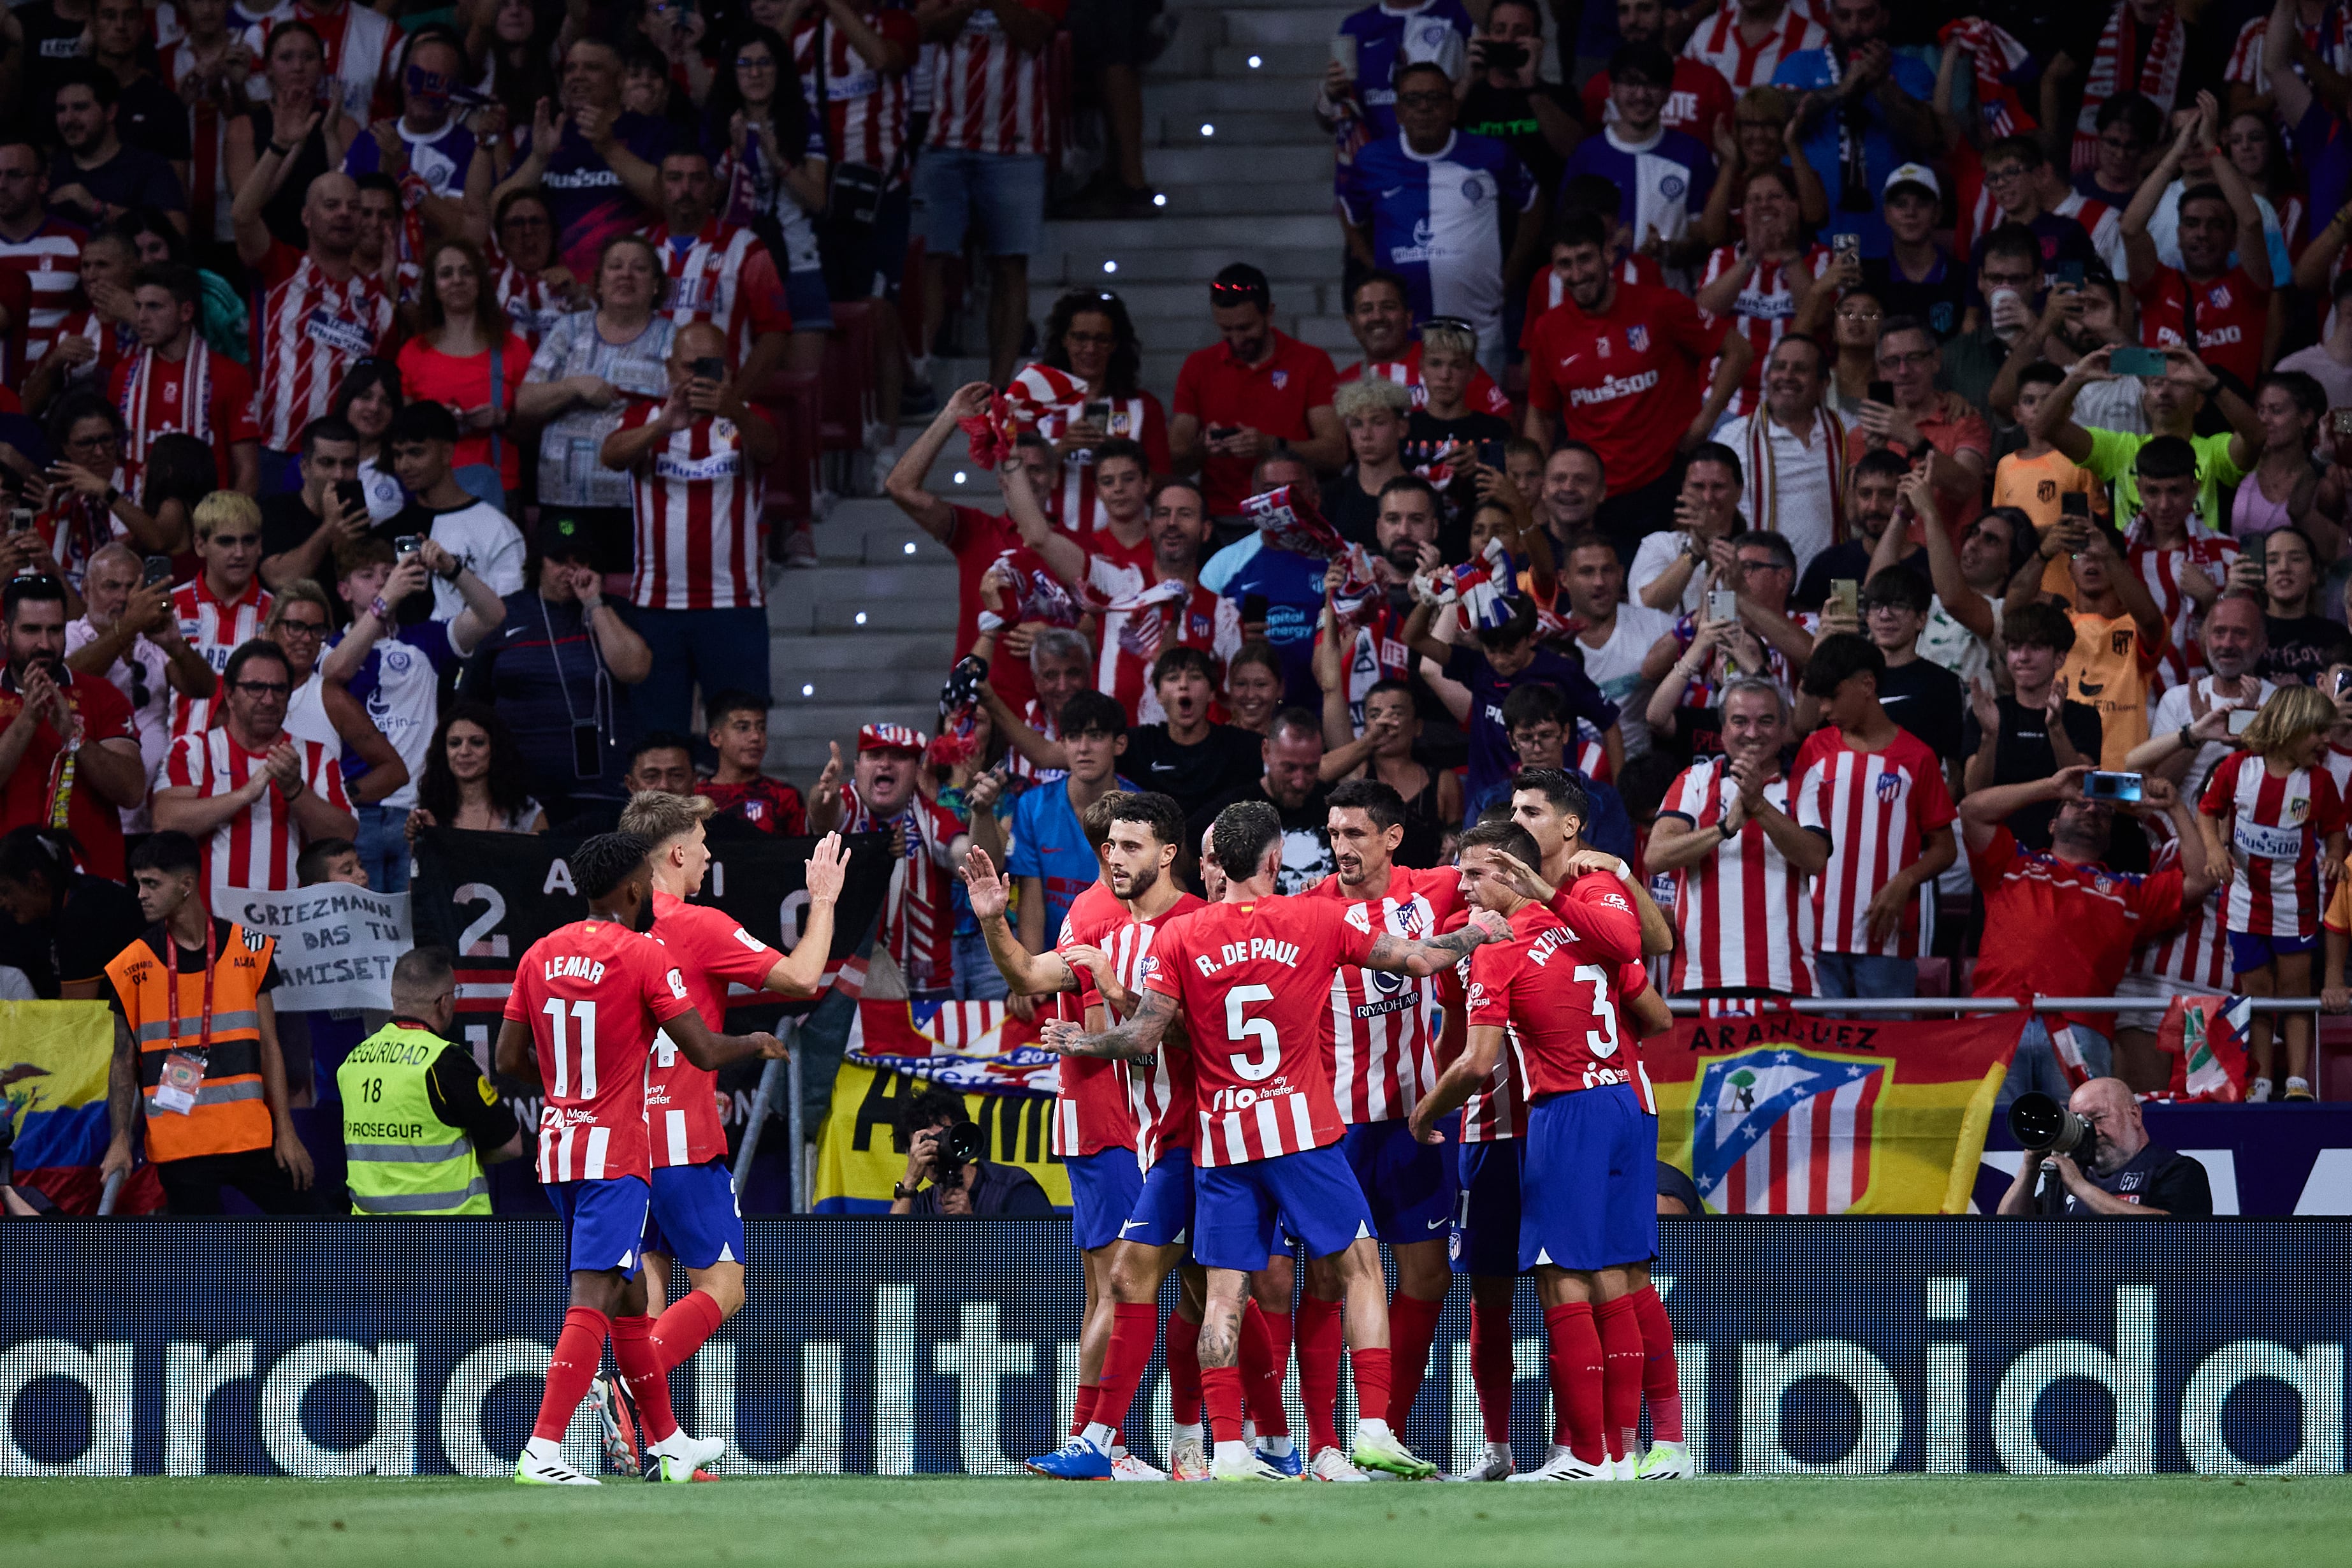
[[1856, 233], [1863, 254], [1879, 256], [1889, 235], [1875, 197], [1886, 176], [1943, 148], [1936, 73], [1886, 42], [1886, 0], [1835, 0], [1825, 21], [1830, 42], [1790, 54], [1771, 80], [1804, 94], [1797, 125], [1830, 188], [1830, 233]]

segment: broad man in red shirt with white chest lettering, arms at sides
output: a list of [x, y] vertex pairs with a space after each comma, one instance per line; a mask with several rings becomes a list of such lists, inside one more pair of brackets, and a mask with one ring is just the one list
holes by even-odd
[[[1550, 451], [1564, 425], [1599, 451], [1609, 501], [1595, 522], [1642, 534], [1672, 510], [1663, 487], [1675, 454], [1708, 440], [1755, 348], [1738, 324], [1710, 322], [1684, 294], [1618, 282], [1599, 214], [1571, 214], [1552, 254], [1569, 301], [1536, 322], [1526, 350], [1526, 435]], [[1710, 357], [1715, 381], [1703, 388]], [[1642, 494], [1653, 487], [1661, 494]]]

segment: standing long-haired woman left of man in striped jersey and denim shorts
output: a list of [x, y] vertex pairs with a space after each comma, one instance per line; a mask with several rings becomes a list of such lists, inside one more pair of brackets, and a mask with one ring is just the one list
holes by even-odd
[[826, 209], [826, 127], [800, 96], [793, 52], [769, 28], [743, 28], [710, 87], [703, 150], [727, 193], [720, 221], [748, 221], [783, 277], [793, 308], [786, 369], [816, 369], [833, 331], [833, 296], [816, 249], [814, 214]]

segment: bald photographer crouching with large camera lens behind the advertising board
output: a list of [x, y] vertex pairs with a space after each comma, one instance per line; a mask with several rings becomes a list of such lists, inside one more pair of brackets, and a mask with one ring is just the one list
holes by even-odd
[[2213, 1218], [2204, 1166], [2147, 1140], [2140, 1103], [2124, 1079], [2091, 1079], [2063, 1107], [2044, 1093], [2018, 1095], [2009, 1131], [2025, 1145], [2025, 1159], [1999, 1213]]

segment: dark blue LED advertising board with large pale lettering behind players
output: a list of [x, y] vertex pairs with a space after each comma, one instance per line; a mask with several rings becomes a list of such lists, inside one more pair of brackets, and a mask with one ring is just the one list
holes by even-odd
[[[1708, 1469], [2321, 1474], [2345, 1467], [2352, 1220], [1668, 1220]], [[0, 1291], [0, 1474], [499, 1476], [562, 1324], [541, 1220], [26, 1220]], [[682, 1284], [682, 1281], [680, 1281]], [[1014, 1474], [1063, 1441], [1063, 1222], [750, 1225], [750, 1305], [673, 1378], [729, 1476]], [[1479, 1441], [1468, 1293], [1409, 1443]], [[1550, 1436], [1519, 1291], [1524, 1462]], [[1291, 1385], [1294, 1429], [1296, 1382]], [[1343, 1420], [1352, 1396], [1343, 1392]], [[1345, 1427], [1343, 1427], [1345, 1429]], [[1160, 1361], [1129, 1441], [1167, 1453]], [[597, 1465], [595, 1418], [572, 1462]]]

